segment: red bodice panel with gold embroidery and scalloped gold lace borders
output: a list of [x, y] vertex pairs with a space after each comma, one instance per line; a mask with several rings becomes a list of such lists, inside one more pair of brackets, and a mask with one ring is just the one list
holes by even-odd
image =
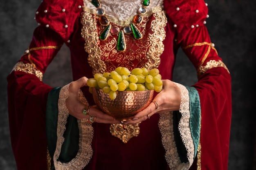
[[[141, 1], [140, 1], [141, 2]], [[157, 4], [155, 4], [157, 5]], [[126, 51], [117, 51], [117, 36], [109, 35], [107, 40], [99, 39], [105, 29], [97, 21], [95, 9], [83, 8], [81, 17], [82, 37], [85, 39], [85, 51], [89, 53], [88, 62], [93, 73], [103, 73], [115, 70], [118, 66], [132, 68], [145, 66], [148, 69], [157, 68], [160, 64], [160, 55], [164, 51], [162, 41], [165, 38], [164, 27], [167, 19], [162, 7], [152, 7], [144, 16], [143, 22], [137, 26], [143, 38], [135, 40], [132, 34], [125, 35]], [[126, 20], [108, 16], [115, 26], [121, 29], [129, 24], [133, 16]]]

